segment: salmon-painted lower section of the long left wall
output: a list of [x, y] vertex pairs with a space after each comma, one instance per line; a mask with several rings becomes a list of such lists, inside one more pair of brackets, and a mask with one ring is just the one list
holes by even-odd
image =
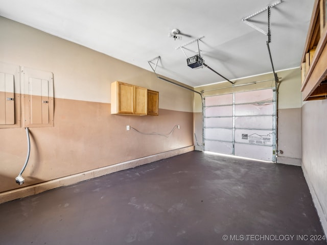
[[[158, 116], [113, 115], [109, 103], [55, 98], [54, 104], [54, 127], [30, 128], [24, 186], [193, 145], [193, 112], [159, 109]], [[167, 137], [127, 131], [127, 125]], [[176, 125], [180, 129], [174, 129]], [[4, 192], [22, 187], [15, 177], [26, 160], [27, 138], [24, 128], [0, 129], [0, 138]]]

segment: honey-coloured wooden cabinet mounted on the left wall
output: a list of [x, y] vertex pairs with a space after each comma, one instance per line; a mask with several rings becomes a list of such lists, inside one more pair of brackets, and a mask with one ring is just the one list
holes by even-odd
[[119, 81], [111, 83], [111, 114], [158, 115], [158, 107], [159, 92]]

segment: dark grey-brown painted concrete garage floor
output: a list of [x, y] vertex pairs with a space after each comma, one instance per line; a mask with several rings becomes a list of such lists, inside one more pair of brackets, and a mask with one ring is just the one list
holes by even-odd
[[0, 217], [0, 244], [326, 244], [300, 167], [202, 152], [0, 204]]

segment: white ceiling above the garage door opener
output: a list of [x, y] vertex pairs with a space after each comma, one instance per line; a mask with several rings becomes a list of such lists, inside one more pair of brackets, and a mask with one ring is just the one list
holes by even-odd
[[[242, 18], [277, 0], [0, 0], [0, 15], [89, 47], [192, 87], [225, 81], [207, 68], [192, 69], [198, 52], [229, 80], [272, 72], [267, 36]], [[298, 67], [314, 0], [283, 0], [271, 8], [271, 55], [275, 70]], [[268, 11], [252, 18], [268, 30]], [[179, 29], [181, 40], [168, 37]], [[155, 62], [155, 61], [154, 61]], [[272, 75], [273, 78], [273, 75]], [[237, 81], [236, 81], [237, 83]]]

